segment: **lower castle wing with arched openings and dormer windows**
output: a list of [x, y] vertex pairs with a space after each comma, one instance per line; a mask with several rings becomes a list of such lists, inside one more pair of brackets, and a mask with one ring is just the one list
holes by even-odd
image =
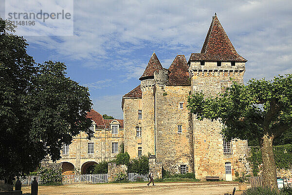
[[85, 174], [91, 165], [114, 159], [123, 147], [123, 119], [103, 119], [95, 110], [91, 110], [87, 117], [91, 118], [94, 137], [89, 140], [87, 134], [81, 132], [73, 137], [70, 145], [63, 145], [61, 159], [56, 161], [61, 164], [62, 172]]

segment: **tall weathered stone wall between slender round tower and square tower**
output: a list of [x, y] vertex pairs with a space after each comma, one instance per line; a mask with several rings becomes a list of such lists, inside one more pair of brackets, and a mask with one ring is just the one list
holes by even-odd
[[[181, 165], [194, 172], [193, 133], [186, 108], [190, 90], [190, 86], [156, 85], [155, 88], [156, 156], [171, 173], [180, 173]], [[182, 125], [182, 133], [178, 132], [178, 125]]]

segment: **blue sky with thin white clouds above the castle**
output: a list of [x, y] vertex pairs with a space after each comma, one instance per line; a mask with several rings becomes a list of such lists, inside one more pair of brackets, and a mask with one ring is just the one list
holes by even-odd
[[215, 12], [248, 60], [245, 82], [292, 73], [291, 10], [291, 0], [74, 0], [73, 36], [25, 39], [38, 63], [65, 62], [68, 76], [89, 87], [97, 112], [123, 118], [122, 96], [139, 85], [153, 51], [164, 68], [177, 53], [188, 60], [201, 51]]

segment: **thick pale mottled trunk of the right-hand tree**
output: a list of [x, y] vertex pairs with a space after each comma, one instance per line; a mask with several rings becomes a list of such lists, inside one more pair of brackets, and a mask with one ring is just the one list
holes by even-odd
[[273, 153], [274, 135], [264, 134], [261, 140], [261, 154], [263, 159], [263, 184], [265, 187], [278, 189], [276, 176], [276, 163]]

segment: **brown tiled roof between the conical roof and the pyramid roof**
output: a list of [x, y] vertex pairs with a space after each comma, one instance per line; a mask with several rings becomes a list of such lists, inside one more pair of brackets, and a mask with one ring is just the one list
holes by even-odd
[[168, 70], [168, 85], [190, 86], [188, 65], [184, 55], [177, 55]]

